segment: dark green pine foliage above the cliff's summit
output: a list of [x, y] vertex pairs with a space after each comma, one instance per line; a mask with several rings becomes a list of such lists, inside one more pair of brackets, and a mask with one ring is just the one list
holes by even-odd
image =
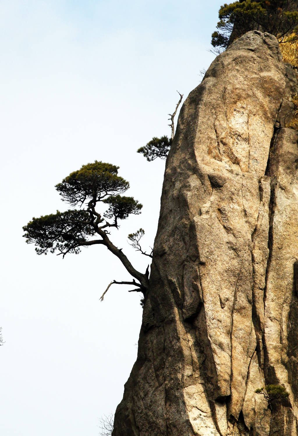
[[298, 29], [297, 1], [294, 0], [240, 0], [225, 3], [218, 15], [219, 31], [212, 34], [213, 47], [227, 48], [234, 39], [251, 30], [283, 37]]

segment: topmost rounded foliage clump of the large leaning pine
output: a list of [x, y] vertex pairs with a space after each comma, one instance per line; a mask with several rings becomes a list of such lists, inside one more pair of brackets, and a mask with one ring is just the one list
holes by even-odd
[[56, 185], [64, 201], [73, 207], [86, 200], [101, 201], [108, 195], [128, 190], [129, 182], [119, 177], [119, 167], [95, 160], [94, 164], [83, 165]]

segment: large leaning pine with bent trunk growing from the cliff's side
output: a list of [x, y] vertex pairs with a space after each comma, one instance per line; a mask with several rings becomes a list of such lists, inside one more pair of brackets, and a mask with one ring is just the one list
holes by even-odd
[[[131, 214], [138, 215], [142, 209], [142, 204], [133, 197], [120, 195], [128, 190], [129, 182], [118, 175], [118, 169], [115, 165], [95, 160], [69, 174], [56, 185], [56, 190], [72, 209], [32, 218], [23, 227], [24, 237], [28, 244], [35, 245], [39, 255], [57, 251], [64, 257], [68, 253], [78, 254], [81, 247], [105, 245], [133, 277], [132, 282], [114, 280], [110, 285], [131, 284], [136, 287], [135, 291], [144, 293], [148, 288], [148, 268], [145, 273], [137, 271], [122, 249], [108, 237], [110, 228], [119, 228], [119, 220]], [[100, 202], [108, 206], [104, 213], [98, 211]], [[79, 209], [74, 209], [77, 206]]]

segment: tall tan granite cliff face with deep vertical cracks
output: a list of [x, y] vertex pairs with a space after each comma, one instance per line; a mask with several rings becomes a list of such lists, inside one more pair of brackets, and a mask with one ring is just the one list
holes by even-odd
[[[251, 31], [186, 99], [113, 436], [298, 435], [297, 91]], [[289, 397], [268, 404], [268, 384]]]

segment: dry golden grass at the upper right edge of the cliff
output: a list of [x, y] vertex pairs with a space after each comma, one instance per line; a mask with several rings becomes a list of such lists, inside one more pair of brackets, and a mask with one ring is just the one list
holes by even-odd
[[[284, 62], [290, 63], [293, 67], [298, 68], [298, 40], [296, 34], [291, 34], [285, 39], [279, 40], [279, 47]], [[295, 105], [294, 118], [290, 123], [286, 124], [286, 127], [298, 130], [298, 94], [293, 97], [293, 103]]]

